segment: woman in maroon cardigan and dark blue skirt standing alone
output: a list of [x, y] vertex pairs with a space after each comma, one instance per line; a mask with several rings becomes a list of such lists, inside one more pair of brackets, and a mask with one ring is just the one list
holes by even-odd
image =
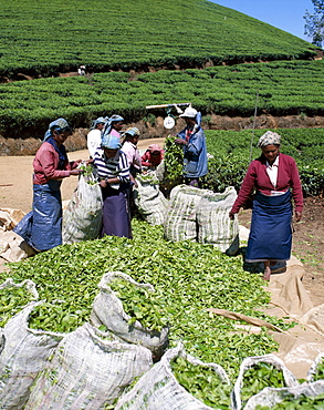
[[262, 154], [249, 165], [229, 215], [233, 219], [255, 189], [245, 262], [262, 262], [264, 280], [270, 280], [271, 263], [285, 262], [291, 256], [291, 197], [295, 205], [296, 222], [301, 221], [303, 212], [299, 170], [293, 157], [280, 153], [280, 139], [272, 131], [260, 137], [258, 146]]

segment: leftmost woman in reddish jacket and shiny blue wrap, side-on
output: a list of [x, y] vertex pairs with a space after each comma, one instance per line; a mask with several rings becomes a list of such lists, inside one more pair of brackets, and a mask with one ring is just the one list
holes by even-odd
[[66, 120], [51, 122], [33, 160], [33, 211], [21, 221], [21, 225], [17, 225], [14, 232], [36, 250], [48, 250], [62, 244], [62, 180], [81, 173], [76, 168], [81, 160], [67, 160], [64, 142], [69, 135], [71, 129]]

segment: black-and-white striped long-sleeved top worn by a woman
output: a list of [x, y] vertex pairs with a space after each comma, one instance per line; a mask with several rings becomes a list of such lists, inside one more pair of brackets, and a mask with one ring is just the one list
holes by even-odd
[[[121, 183], [129, 183], [129, 166], [127, 156], [123, 151], [118, 150], [113, 158], [107, 158], [104, 150], [98, 148], [94, 153], [93, 162], [100, 180], [117, 177]], [[118, 189], [119, 186], [118, 184], [114, 184], [112, 187]]]

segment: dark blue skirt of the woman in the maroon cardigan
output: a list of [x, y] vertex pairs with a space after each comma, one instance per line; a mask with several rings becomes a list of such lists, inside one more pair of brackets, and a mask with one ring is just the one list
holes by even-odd
[[245, 262], [289, 260], [292, 247], [291, 221], [290, 191], [279, 196], [258, 192], [253, 201]]

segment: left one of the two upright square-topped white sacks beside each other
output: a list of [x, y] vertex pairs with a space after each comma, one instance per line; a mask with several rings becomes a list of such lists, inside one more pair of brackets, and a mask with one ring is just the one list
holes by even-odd
[[198, 238], [197, 209], [201, 197], [210, 191], [188, 185], [173, 188], [164, 225], [166, 239], [181, 242]]

